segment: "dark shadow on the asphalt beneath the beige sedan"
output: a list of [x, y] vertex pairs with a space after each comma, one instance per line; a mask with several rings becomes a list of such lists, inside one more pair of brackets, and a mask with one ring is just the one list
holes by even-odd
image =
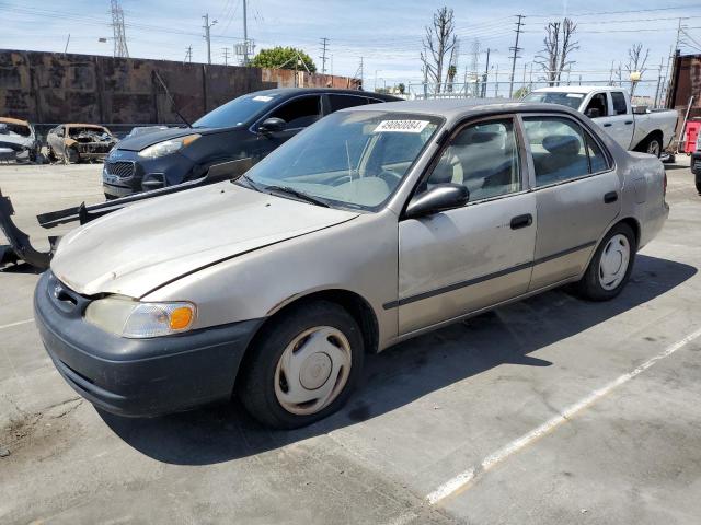
[[246, 457], [376, 418], [501, 364], [550, 366], [529, 354], [663, 295], [697, 271], [639, 255], [631, 281], [613, 301], [586, 302], [559, 289], [368, 355], [346, 407], [304, 429], [262, 428], [235, 400], [153, 419], [99, 413], [126, 443], [160, 462], [207, 465]]

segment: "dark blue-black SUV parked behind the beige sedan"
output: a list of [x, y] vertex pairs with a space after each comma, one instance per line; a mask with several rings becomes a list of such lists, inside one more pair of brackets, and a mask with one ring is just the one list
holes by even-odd
[[125, 197], [205, 176], [215, 164], [252, 164], [324, 115], [344, 107], [400, 101], [353, 90], [287, 88], [240, 96], [189, 127], [122, 140], [102, 172], [105, 196]]

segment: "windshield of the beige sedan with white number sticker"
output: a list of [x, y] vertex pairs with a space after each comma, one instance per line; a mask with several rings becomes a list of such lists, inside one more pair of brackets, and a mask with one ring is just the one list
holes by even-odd
[[401, 113], [335, 113], [277, 149], [245, 179], [258, 189], [376, 210], [394, 192], [440, 121]]

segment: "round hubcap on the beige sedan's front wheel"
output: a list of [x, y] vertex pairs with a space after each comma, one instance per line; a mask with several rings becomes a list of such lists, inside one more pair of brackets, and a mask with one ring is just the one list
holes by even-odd
[[275, 369], [275, 396], [288, 412], [304, 416], [329, 406], [350, 374], [350, 343], [331, 326], [302, 331], [285, 348]]

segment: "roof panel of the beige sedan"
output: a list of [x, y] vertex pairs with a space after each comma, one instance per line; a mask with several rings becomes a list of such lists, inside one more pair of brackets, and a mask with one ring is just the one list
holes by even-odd
[[559, 104], [518, 102], [508, 98], [441, 98], [429, 101], [387, 102], [371, 106], [355, 106], [342, 112], [395, 112], [445, 117], [449, 120], [480, 113], [543, 112], [579, 115]]

